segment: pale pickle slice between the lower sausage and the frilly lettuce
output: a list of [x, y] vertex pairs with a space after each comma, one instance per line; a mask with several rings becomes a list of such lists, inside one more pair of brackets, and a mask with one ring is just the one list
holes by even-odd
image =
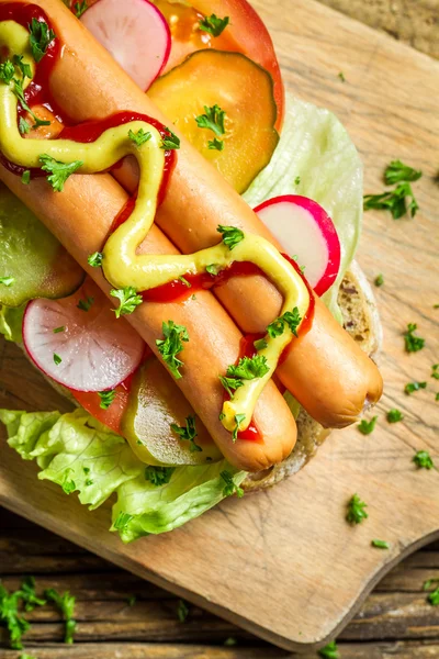
[[193, 439], [201, 450], [193, 450], [193, 443], [171, 428], [185, 427], [192, 414], [171, 376], [151, 358], [134, 378], [121, 431], [136, 456], [147, 465], [205, 465], [222, 460], [221, 451], [199, 418]]

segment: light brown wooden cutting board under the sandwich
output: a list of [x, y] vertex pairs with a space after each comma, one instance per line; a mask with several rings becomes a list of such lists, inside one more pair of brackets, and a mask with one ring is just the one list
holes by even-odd
[[[78, 545], [293, 650], [326, 643], [403, 556], [439, 537], [439, 473], [416, 470], [416, 450], [439, 465], [439, 63], [312, 0], [256, 0], [280, 55], [288, 88], [335, 111], [365, 165], [367, 192], [401, 158], [423, 169], [420, 211], [393, 221], [367, 213], [359, 260], [378, 289], [384, 325], [385, 393], [375, 432], [334, 433], [301, 473], [261, 494], [228, 500], [160, 537], [123, 546], [108, 533], [109, 509], [89, 513], [75, 496], [36, 480], [36, 469], [1, 447], [0, 504]], [[342, 71], [346, 81], [338, 74]], [[435, 258], [436, 257], [436, 258]], [[417, 323], [420, 353], [402, 333]], [[412, 396], [404, 386], [426, 380]], [[20, 351], [1, 344], [1, 406], [64, 409]], [[404, 421], [389, 424], [398, 407]], [[351, 528], [346, 503], [358, 492], [369, 520]], [[371, 547], [391, 543], [390, 551]]]

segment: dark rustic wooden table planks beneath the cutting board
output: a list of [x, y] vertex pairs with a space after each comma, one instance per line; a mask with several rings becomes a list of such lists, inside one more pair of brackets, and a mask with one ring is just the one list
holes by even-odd
[[[437, 55], [438, 0], [395, 1], [384, 8], [376, 0], [323, 1]], [[431, 12], [431, 20], [426, 12]], [[178, 600], [172, 595], [0, 510], [0, 578], [8, 589], [15, 589], [25, 574], [35, 576], [41, 590], [70, 590], [77, 597], [78, 630], [72, 648], [61, 644], [63, 624], [54, 610], [44, 607], [29, 616], [32, 629], [26, 635], [26, 650], [38, 659], [292, 656], [192, 606], [187, 622], [181, 623]], [[439, 607], [430, 606], [423, 591], [424, 581], [437, 577], [439, 545], [419, 551], [396, 568], [340, 635], [341, 658], [439, 657]], [[132, 595], [136, 602], [130, 605]], [[225, 646], [227, 639], [236, 644]], [[5, 647], [7, 636], [0, 629], [0, 659], [20, 656]], [[305, 657], [315, 656], [313, 652]]]

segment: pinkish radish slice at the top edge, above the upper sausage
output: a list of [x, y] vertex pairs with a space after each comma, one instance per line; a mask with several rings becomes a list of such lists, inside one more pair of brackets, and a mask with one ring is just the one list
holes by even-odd
[[145, 91], [168, 62], [171, 33], [148, 0], [99, 0], [81, 22]]

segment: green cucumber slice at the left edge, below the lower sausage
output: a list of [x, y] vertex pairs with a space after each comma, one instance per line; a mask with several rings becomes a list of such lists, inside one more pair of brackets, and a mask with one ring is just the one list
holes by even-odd
[[0, 278], [7, 278], [0, 283], [0, 304], [65, 298], [85, 279], [85, 271], [52, 233], [1, 182], [0, 245]]

